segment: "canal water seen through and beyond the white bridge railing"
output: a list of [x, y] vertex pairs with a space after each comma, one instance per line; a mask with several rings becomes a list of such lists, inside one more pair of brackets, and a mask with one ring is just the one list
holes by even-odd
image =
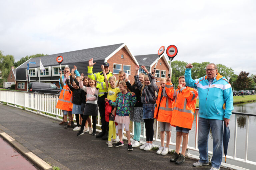
[[[242, 112], [242, 113], [250, 113], [255, 114], [255, 116], [249, 116], [249, 125], [246, 125], [246, 116], [238, 115], [237, 118], [237, 144], [236, 144], [236, 157], [244, 159], [245, 158], [245, 135], [246, 135], [246, 127], [249, 127], [249, 138], [248, 138], [248, 155], [247, 159], [250, 161], [256, 162], [256, 102], [254, 103], [245, 103], [245, 104], [238, 104], [234, 105], [233, 112]], [[155, 121], [156, 122], [156, 121]], [[194, 147], [195, 145], [195, 131], [196, 131], [196, 117], [194, 119], [193, 127], [189, 132], [189, 144], [188, 146]], [[154, 126], [155, 129], [156, 126]], [[231, 115], [230, 122], [229, 122], [229, 128], [230, 128], [230, 139], [228, 144], [228, 152], [227, 155], [233, 156], [233, 148], [234, 148], [234, 129], [235, 129], [235, 114]], [[143, 129], [143, 126], [142, 126]], [[142, 130], [143, 134], [143, 130]], [[172, 127], [172, 133], [171, 133], [171, 142], [176, 142], [176, 131], [175, 127]], [[160, 139], [160, 126], [158, 126], [158, 139]], [[165, 139], [166, 140], [166, 139]], [[156, 144], [160, 145], [160, 142], [155, 142]], [[208, 148], [209, 151], [212, 151], [213, 143], [212, 143], [212, 134], [210, 131], [209, 141], [208, 141]], [[175, 146], [170, 146], [170, 149], [175, 150]], [[181, 150], [180, 150], [181, 151]], [[196, 151], [189, 150], [191, 154], [199, 155]], [[211, 155], [209, 155], [211, 156]], [[223, 159], [224, 161], [224, 159]], [[247, 165], [245, 163], [240, 163], [237, 161], [232, 161], [227, 159], [228, 164], [237, 165], [243, 168], [247, 169], [256, 169], [256, 166], [253, 165]]]

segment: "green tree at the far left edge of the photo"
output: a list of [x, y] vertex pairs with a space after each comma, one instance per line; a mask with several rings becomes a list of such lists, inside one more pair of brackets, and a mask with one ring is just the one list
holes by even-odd
[[2, 51], [0, 51], [0, 71], [2, 74], [2, 78], [4, 80], [7, 80], [8, 74], [13, 64], [14, 64], [13, 55], [3, 55]]

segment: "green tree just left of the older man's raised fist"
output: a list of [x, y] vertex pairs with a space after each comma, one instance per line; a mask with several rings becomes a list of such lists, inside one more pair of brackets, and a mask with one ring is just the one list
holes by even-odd
[[179, 76], [182, 76], [185, 74], [187, 62], [184, 61], [172, 61], [172, 84], [175, 85], [175, 87], [179, 84]]

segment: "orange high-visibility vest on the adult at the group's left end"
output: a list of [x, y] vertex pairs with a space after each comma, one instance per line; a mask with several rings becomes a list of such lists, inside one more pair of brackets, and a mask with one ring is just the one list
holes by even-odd
[[66, 111], [72, 111], [72, 108], [73, 108], [72, 91], [70, 94], [67, 88], [68, 88], [68, 85], [63, 86], [56, 108], [61, 110], [66, 110]]

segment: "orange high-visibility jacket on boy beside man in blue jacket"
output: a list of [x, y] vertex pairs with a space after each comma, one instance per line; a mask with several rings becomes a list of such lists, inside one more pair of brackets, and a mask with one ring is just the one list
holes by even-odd
[[166, 89], [166, 93], [170, 98], [175, 97], [171, 125], [191, 129], [196, 109], [197, 91], [190, 87], [182, 90], [174, 90], [172, 87]]

